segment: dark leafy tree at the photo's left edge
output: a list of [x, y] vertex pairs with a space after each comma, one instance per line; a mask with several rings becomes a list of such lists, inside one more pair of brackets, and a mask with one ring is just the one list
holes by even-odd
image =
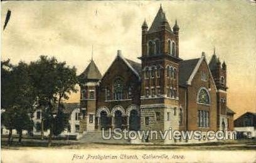
[[[34, 87], [31, 86], [29, 77], [28, 64], [19, 62], [18, 66], [9, 66], [9, 60], [3, 62], [1, 71], [3, 77], [3, 93], [1, 92], [2, 108], [5, 109], [3, 114], [4, 126], [9, 129], [9, 139], [11, 141], [12, 130], [16, 129], [19, 133], [19, 142], [21, 142], [22, 131], [30, 129], [31, 118], [29, 113], [33, 112], [35, 104]], [[1, 79], [2, 80], [2, 79]], [[30, 114], [31, 115], [31, 114]]]

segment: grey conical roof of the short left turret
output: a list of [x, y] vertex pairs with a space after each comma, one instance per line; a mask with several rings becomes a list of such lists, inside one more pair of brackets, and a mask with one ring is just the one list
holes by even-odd
[[96, 66], [93, 60], [90, 61], [90, 64], [86, 67], [85, 71], [80, 74], [82, 79], [98, 79], [102, 78], [98, 67]]

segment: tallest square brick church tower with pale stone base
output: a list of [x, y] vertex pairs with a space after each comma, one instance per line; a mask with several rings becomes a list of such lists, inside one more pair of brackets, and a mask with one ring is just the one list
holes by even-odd
[[139, 59], [142, 61], [141, 129], [178, 129], [178, 120], [175, 121], [178, 116], [173, 115], [179, 109], [179, 62], [182, 60], [179, 58], [179, 26], [176, 21], [171, 28], [162, 6], [149, 29], [146, 20], [142, 24]]

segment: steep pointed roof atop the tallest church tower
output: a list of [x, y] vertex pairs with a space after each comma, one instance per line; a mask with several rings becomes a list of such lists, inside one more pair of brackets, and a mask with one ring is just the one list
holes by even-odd
[[168, 26], [166, 26], [166, 27], [167, 27], [168, 31], [171, 31], [171, 27], [169, 26], [169, 23], [166, 19], [163, 8], [162, 8], [162, 6], [160, 6], [160, 8], [156, 14], [156, 17], [154, 18], [154, 21], [152, 22], [152, 25], [149, 28], [148, 33], [160, 31], [159, 27], [161, 27], [163, 25], [163, 22], [166, 22], [168, 24]]

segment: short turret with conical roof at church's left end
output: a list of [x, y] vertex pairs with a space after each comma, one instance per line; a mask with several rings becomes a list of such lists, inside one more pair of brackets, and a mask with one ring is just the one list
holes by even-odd
[[80, 133], [95, 130], [96, 97], [102, 78], [93, 59], [79, 76], [80, 86]]

